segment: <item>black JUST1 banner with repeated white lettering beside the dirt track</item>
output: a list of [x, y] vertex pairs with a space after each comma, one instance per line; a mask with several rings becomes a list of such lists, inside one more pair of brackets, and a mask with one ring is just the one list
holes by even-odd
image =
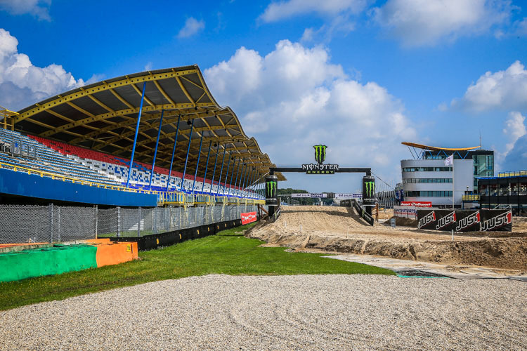
[[512, 232], [510, 210], [417, 210], [418, 229]]

